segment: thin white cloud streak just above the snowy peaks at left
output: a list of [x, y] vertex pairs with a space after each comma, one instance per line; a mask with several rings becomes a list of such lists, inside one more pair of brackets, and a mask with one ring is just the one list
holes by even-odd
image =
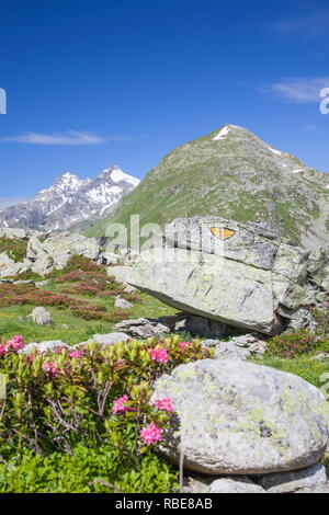
[[99, 145], [105, 141], [105, 138], [97, 134], [79, 130], [68, 130], [65, 134], [23, 133], [0, 139], [30, 145]]

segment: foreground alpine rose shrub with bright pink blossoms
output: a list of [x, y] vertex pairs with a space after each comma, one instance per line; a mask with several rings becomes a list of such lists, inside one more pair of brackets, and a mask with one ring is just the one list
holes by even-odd
[[200, 342], [182, 345], [177, 336], [43, 355], [21, 348], [21, 336], [0, 345], [8, 385], [0, 400], [0, 456], [111, 445], [136, 467], [149, 445], [167, 437], [172, 419], [167, 401], [162, 408], [149, 404], [154, 381], [182, 363], [212, 356]]

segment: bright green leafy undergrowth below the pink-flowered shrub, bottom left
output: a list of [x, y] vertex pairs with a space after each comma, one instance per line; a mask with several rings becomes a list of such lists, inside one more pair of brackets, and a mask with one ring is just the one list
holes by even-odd
[[72, 455], [46, 457], [24, 451], [0, 464], [0, 493], [168, 493], [177, 488], [177, 472], [155, 453], [147, 451], [136, 467], [109, 445], [78, 445]]

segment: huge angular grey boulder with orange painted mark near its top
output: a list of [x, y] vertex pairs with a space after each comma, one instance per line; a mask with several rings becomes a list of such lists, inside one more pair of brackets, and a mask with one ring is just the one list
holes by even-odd
[[219, 217], [174, 220], [164, 245], [140, 253], [126, 282], [182, 311], [274, 334], [316, 302], [308, 254], [258, 225]]

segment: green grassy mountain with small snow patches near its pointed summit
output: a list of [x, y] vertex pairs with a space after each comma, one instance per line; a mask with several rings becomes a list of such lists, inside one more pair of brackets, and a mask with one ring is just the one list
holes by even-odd
[[318, 249], [329, 243], [329, 174], [225, 125], [166, 156], [89, 234], [137, 213], [141, 224], [203, 215], [252, 221]]

